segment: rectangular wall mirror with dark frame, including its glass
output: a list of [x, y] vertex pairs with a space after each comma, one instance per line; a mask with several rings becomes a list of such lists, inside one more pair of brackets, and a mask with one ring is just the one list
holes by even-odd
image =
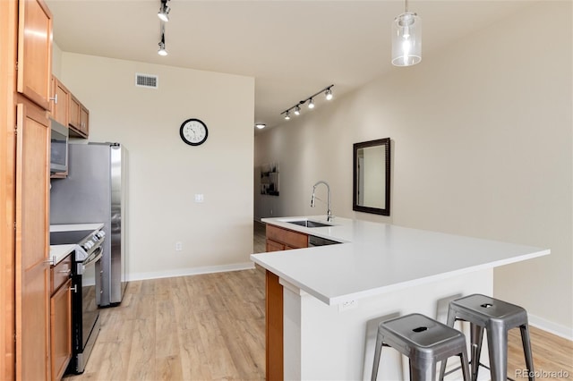
[[390, 139], [354, 144], [352, 210], [390, 215]]

